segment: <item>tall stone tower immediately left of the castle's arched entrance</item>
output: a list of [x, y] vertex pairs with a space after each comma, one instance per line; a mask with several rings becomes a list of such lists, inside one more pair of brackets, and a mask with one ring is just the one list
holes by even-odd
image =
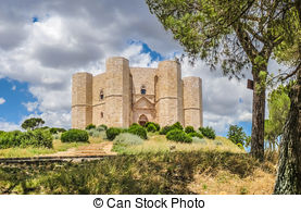
[[105, 115], [108, 126], [130, 124], [130, 76], [128, 60], [114, 57], [106, 60]]

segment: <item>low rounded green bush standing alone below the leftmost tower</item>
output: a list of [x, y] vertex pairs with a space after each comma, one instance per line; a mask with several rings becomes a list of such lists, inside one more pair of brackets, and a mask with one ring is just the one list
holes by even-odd
[[62, 142], [87, 142], [89, 135], [86, 131], [81, 129], [70, 129], [62, 134]]

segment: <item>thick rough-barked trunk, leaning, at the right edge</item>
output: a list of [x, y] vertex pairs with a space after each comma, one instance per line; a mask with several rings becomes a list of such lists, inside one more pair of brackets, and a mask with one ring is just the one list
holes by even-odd
[[274, 194], [301, 194], [301, 73], [290, 94], [290, 111], [280, 144], [279, 167]]

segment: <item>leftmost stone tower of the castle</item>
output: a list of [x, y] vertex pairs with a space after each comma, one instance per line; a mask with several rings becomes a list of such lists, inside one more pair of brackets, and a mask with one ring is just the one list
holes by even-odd
[[76, 73], [72, 77], [72, 128], [84, 129], [92, 123], [92, 75]]

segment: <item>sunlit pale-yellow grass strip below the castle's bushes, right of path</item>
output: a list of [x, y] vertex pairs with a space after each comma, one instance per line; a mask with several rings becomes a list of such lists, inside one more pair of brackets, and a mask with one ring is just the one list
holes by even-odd
[[246, 153], [243, 149], [240, 149], [230, 140], [224, 137], [217, 136], [215, 140], [205, 139], [203, 142], [181, 144], [170, 141], [164, 135], [148, 134], [149, 139], [142, 145], [137, 146], [114, 146], [113, 150], [122, 154], [137, 154], [137, 153], [156, 153], [168, 151], [220, 151], [220, 152], [233, 152], [233, 153]]

